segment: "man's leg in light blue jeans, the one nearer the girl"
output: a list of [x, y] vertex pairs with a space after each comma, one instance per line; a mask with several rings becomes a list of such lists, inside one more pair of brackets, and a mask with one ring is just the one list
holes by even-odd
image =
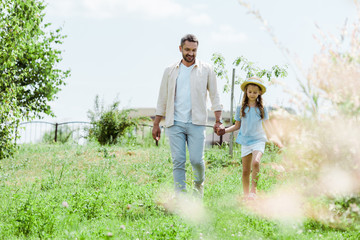
[[195, 175], [195, 188], [203, 195], [203, 183], [205, 180], [205, 126], [188, 124], [187, 130], [189, 157]]

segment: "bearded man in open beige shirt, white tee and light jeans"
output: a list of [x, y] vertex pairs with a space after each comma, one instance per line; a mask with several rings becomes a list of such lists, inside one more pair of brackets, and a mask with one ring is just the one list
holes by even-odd
[[167, 67], [161, 81], [152, 135], [160, 139], [159, 123], [165, 116], [173, 160], [176, 193], [186, 190], [186, 144], [194, 171], [194, 187], [203, 196], [205, 180], [204, 147], [207, 121], [207, 94], [215, 113], [214, 130], [221, 125], [216, 75], [211, 65], [196, 59], [199, 42], [188, 34], [181, 39], [182, 60]]

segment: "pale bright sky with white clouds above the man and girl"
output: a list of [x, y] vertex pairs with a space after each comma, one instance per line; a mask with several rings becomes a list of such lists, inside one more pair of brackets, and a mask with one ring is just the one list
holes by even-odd
[[[55, 118], [88, 121], [99, 95], [105, 105], [120, 101], [121, 108], [155, 108], [165, 67], [180, 61], [180, 39], [187, 33], [199, 39], [197, 58], [211, 62], [221, 53], [229, 72], [232, 62], [244, 56], [258, 66], [288, 64], [264, 26], [237, 0], [45, 0], [45, 22], [62, 27], [67, 35], [61, 69], [71, 76], [50, 105]], [[339, 35], [346, 19], [356, 17], [352, 0], [252, 0], [272, 27], [277, 39], [305, 66], [320, 45], [316, 24], [326, 33]], [[289, 68], [281, 79], [298, 89]], [[224, 109], [230, 109], [225, 81], [218, 79]], [[240, 98], [239, 87], [235, 101]], [[275, 86], [264, 94], [266, 105], [291, 107], [291, 97]]]

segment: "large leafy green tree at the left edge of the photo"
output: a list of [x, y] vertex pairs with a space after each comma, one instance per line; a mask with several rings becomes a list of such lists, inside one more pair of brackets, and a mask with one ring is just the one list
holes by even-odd
[[70, 74], [56, 67], [65, 36], [43, 23], [45, 8], [41, 0], [0, 2], [0, 159], [13, 152], [20, 120], [53, 115], [48, 103]]

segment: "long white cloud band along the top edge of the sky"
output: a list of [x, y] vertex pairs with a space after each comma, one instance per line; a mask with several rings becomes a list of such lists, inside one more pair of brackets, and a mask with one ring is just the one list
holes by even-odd
[[47, 0], [48, 14], [61, 17], [86, 17], [95, 19], [119, 18], [124, 14], [158, 19], [182, 17], [195, 26], [208, 26], [211, 17], [202, 13], [208, 5], [195, 4], [186, 9], [175, 0]]

